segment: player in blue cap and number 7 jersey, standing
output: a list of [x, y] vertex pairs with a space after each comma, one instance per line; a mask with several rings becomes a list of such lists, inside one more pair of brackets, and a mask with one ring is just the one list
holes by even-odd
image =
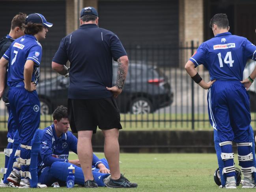
[[[18, 148], [21, 167], [16, 164], [18, 167], [13, 169], [7, 180], [20, 187], [30, 187], [32, 177], [30, 167], [37, 162], [37, 159], [34, 159], [35, 162], [32, 158], [30, 159], [30, 152], [34, 153], [31, 141], [40, 123], [40, 103], [36, 85], [39, 80], [42, 47], [38, 40], [45, 39], [47, 28], [51, 26], [52, 24], [47, 22], [41, 14], [28, 15], [24, 25], [25, 35], [13, 41], [0, 60], [0, 97], [4, 90], [6, 65], [9, 62], [7, 78], [9, 103], [21, 143]], [[45, 185], [36, 186], [43, 187]]]

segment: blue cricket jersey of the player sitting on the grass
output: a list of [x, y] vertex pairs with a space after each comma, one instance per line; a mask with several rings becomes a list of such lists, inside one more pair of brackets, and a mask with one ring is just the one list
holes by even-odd
[[[43, 167], [51, 166], [56, 161], [68, 162], [69, 150], [77, 153], [77, 138], [70, 131], [58, 138], [52, 124], [44, 129], [38, 165]], [[92, 165], [96, 167], [99, 163], [101, 161], [93, 154]]]

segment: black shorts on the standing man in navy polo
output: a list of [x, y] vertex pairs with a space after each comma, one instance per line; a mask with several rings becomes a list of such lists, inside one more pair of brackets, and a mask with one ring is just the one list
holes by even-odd
[[122, 129], [120, 112], [113, 97], [105, 99], [68, 99], [68, 116], [72, 132], [99, 129]]

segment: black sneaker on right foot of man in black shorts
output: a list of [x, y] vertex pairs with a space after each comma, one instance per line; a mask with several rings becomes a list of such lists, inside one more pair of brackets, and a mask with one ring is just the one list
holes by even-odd
[[138, 186], [137, 183], [131, 183], [128, 179], [123, 177], [123, 174], [121, 174], [118, 180], [111, 179], [109, 175], [106, 179], [104, 179], [104, 184], [107, 187], [113, 188], [135, 188]]

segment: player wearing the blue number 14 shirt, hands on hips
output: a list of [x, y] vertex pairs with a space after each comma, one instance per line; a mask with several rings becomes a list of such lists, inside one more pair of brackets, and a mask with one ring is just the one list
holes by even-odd
[[[214, 38], [202, 43], [185, 65], [187, 73], [202, 88], [208, 89], [209, 120], [214, 129], [214, 142], [222, 187], [236, 188], [232, 142], [237, 144], [239, 166], [243, 173], [242, 188], [256, 186], [256, 161], [253, 131], [250, 128], [249, 88], [256, 69], [243, 80], [248, 59], [256, 60], [256, 47], [245, 37], [232, 35], [226, 14], [216, 14], [210, 22]], [[206, 83], [195, 67], [203, 64], [210, 74]]]

